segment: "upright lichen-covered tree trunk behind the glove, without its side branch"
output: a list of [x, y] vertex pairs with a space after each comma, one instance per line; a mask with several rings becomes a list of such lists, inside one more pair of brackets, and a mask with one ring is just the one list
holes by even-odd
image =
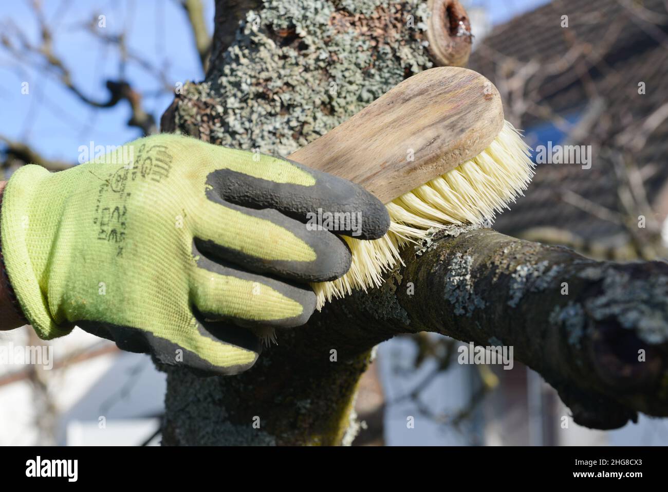
[[[432, 66], [427, 12], [415, 0], [275, 0], [261, 7], [218, 0], [206, 80], [184, 86], [162, 130], [287, 156]], [[168, 370], [163, 443], [350, 443], [355, 390], [373, 345], [346, 350], [333, 363], [335, 347], [326, 339], [312, 346], [308, 332], [279, 333], [279, 345], [240, 377]]]

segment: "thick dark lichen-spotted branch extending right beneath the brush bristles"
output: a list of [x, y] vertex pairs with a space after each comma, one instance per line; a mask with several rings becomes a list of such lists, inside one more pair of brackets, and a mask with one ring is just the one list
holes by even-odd
[[364, 348], [426, 330], [504, 344], [558, 390], [578, 424], [668, 415], [666, 263], [599, 262], [489, 229], [461, 232], [438, 233], [420, 256], [405, 251], [406, 266], [382, 289], [323, 310], [328, 328], [346, 326], [339, 343]]

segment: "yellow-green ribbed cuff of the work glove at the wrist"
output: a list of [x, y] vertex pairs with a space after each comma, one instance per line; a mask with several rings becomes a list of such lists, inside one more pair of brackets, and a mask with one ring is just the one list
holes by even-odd
[[[39, 338], [49, 340], [71, 332], [72, 324], [57, 324], [49, 312], [47, 297], [39, 285], [29, 255], [28, 231], [31, 220], [29, 210], [33, 199], [31, 188], [48, 178], [49, 171], [41, 166], [28, 164], [12, 174], [3, 191], [0, 209], [0, 244], [7, 277], [13, 288], [23, 316], [32, 325]], [[48, 244], [38, 245], [48, 248]]]

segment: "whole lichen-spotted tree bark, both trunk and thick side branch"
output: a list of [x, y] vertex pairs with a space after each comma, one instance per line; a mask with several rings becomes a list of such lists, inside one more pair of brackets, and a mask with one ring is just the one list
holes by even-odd
[[[257, 4], [216, 1], [206, 80], [176, 96], [164, 131], [287, 155], [439, 59], [426, 48], [427, 3]], [[228, 12], [245, 19], [234, 36]], [[163, 443], [350, 443], [373, 347], [425, 330], [514, 346], [576, 422], [613, 428], [637, 411], [668, 415], [668, 265], [597, 262], [476, 227], [440, 231], [403, 261], [380, 289], [279, 332], [279, 345], [240, 376], [168, 369]]]

